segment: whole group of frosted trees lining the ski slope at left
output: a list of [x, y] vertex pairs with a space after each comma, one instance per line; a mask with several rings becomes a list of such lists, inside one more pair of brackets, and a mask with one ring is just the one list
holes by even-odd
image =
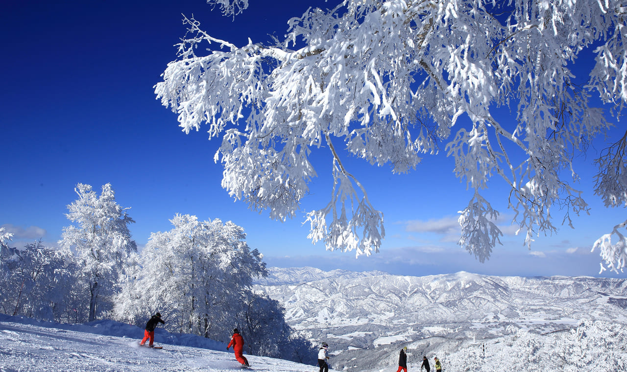
[[9, 247], [11, 234], [0, 229], [1, 312], [144, 326], [159, 311], [172, 332], [228, 342], [236, 327], [248, 353], [295, 361], [313, 354], [285, 323], [283, 307], [251, 290], [267, 271], [242, 227], [177, 214], [172, 230], [150, 235], [138, 253], [129, 230], [134, 221], [111, 185], [100, 195], [81, 183], [75, 190], [66, 214], [73, 225], [63, 229], [59, 249], [41, 241]]

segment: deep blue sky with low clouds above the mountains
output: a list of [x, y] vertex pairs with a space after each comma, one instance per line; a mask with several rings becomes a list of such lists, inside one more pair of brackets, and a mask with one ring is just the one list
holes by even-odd
[[[326, 8], [335, 1], [250, 0], [234, 21], [211, 11], [203, 0], [184, 1], [9, 1], [0, 13], [4, 57], [0, 102], [3, 177], [0, 177], [0, 227], [15, 234], [13, 245], [43, 238], [55, 244], [70, 224], [67, 205], [76, 183], [99, 190], [112, 183], [116, 199], [131, 207], [134, 239], [144, 245], [150, 232], [169, 230], [176, 213], [199, 219], [232, 220], [244, 227], [248, 244], [260, 249], [269, 266], [321, 269], [379, 269], [393, 274], [430, 275], [456, 271], [495, 275], [596, 276], [600, 257], [594, 240], [622, 222], [624, 209], [605, 209], [592, 193], [589, 163], [601, 144], [581, 157], [578, 185], [591, 215], [540, 236], [531, 250], [507, 226], [512, 217], [502, 182], [492, 180], [487, 197], [503, 215], [503, 245], [484, 264], [456, 245], [456, 212], [470, 199], [453, 175], [453, 160], [425, 158], [409, 175], [394, 175], [357, 159], [345, 165], [369, 191], [385, 215], [386, 240], [379, 254], [327, 252], [307, 239], [304, 217], [275, 222], [267, 214], [234, 202], [221, 189], [222, 168], [213, 162], [219, 143], [203, 131], [185, 135], [176, 114], [155, 100], [155, 83], [184, 36], [181, 14], [194, 14], [216, 38], [235, 44], [282, 36], [287, 20], [308, 5]], [[615, 120], [612, 119], [615, 122]], [[320, 177], [303, 209], [318, 209], [330, 195], [328, 154], [315, 163]], [[499, 194], [500, 193], [500, 194]], [[555, 223], [561, 213], [555, 212]], [[603, 276], [625, 277], [604, 272]]]

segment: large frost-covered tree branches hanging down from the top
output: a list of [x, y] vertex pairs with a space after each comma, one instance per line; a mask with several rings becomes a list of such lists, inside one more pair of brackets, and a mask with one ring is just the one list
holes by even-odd
[[[229, 14], [248, 4], [209, 3]], [[384, 237], [383, 214], [342, 154], [404, 173], [445, 150], [473, 190], [460, 212], [460, 245], [482, 262], [502, 235], [493, 223], [499, 212], [482, 193], [492, 176], [509, 185], [512, 222], [526, 244], [556, 230], [557, 210], [571, 226], [570, 213], [587, 212], [573, 186], [573, 158], [610, 126], [590, 96], [614, 105], [614, 115], [627, 101], [622, 1], [330, 3], [337, 6], [291, 19], [285, 38], [271, 44], [236, 46], [185, 19], [191, 36], [155, 93], [179, 114], [184, 132], [207, 123], [210, 138], [222, 136], [214, 160], [224, 165], [230, 195], [274, 219], [291, 218], [316, 175], [310, 153], [324, 149], [334, 184], [329, 204], [307, 212], [309, 237], [327, 249], [370, 254]], [[198, 54], [202, 46], [208, 54]], [[595, 63], [581, 85], [574, 66], [585, 70], [575, 64], [584, 51]], [[501, 118], [503, 108], [515, 120]], [[622, 168], [611, 176], [625, 153], [605, 155], [600, 172], [609, 177], [596, 192], [624, 203]], [[624, 239], [618, 249], [607, 240], [599, 247], [611, 269], [622, 269]]]

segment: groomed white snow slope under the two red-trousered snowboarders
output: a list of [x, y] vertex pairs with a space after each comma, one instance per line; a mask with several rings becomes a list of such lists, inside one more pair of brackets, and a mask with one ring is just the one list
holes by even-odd
[[[223, 343], [157, 331], [155, 344], [163, 346], [161, 350], [140, 347], [138, 343], [143, 330], [127, 324], [113, 321], [90, 325], [53, 324], [0, 315], [0, 372], [217, 372], [242, 369], [232, 349], [226, 351]], [[248, 355], [246, 358], [253, 371], [317, 370], [317, 366], [280, 359]]]

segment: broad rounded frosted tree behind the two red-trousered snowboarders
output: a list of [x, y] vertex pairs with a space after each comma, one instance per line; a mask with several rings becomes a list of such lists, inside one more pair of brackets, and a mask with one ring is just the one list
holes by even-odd
[[171, 331], [224, 341], [253, 278], [267, 274], [263, 256], [233, 222], [201, 222], [192, 215], [171, 222], [172, 230], [150, 235], [115, 314], [145, 321], [160, 311]]

